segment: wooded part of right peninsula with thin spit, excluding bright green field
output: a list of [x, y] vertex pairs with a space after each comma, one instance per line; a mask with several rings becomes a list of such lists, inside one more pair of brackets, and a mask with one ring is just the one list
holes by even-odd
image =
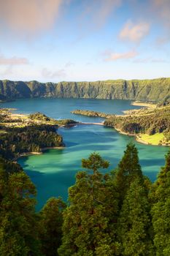
[[[130, 134], [146, 133], [154, 135], [163, 132], [169, 136], [170, 133], [170, 106], [155, 109], [141, 109], [119, 116], [92, 110], [74, 110], [72, 113], [82, 116], [99, 116], [106, 118], [104, 125], [120, 129]], [[132, 113], [131, 113], [132, 112]]]

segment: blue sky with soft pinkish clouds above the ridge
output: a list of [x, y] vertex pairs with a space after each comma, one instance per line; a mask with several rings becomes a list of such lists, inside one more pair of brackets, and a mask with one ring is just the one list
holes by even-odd
[[170, 77], [169, 0], [0, 0], [0, 80]]

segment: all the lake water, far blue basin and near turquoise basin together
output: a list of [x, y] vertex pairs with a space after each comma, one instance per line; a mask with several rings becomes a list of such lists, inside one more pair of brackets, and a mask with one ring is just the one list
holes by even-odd
[[[136, 108], [124, 100], [102, 99], [20, 99], [7, 102], [4, 107], [18, 108], [18, 113], [41, 111], [53, 118], [74, 118], [78, 121], [101, 121], [102, 118], [74, 116], [70, 110], [77, 108], [98, 110], [105, 113], [121, 113], [122, 110]], [[81, 159], [96, 151], [110, 162], [109, 170], [117, 166], [129, 140], [139, 149], [139, 159], [144, 174], [155, 180], [160, 167], [164, 165], [167, 147], [147, 146], [137, 143], [134, 138], [120, 135], [115, 129], [98, 125], [78, 125], [60, 128], [66, 148], [50, 149], [42, 155], [23, 157], [18, 160], [37, 189], [37, 210], [52, 196], [68, 196], [68, 188], [74, 184], [75, 175], [81, 168]]]

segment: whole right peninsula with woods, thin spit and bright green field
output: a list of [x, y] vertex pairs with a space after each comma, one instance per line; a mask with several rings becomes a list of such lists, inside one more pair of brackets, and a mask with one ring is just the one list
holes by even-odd
[[104, 117], [105, 126], [113, 127], [124, 135], [135, 136], [140, 143], [170, 146], [170, 105], [156, 107], [151, 104], [139, 110], [127, 110], [121, 116], [91, 110], [74, 110], [72, 113]]

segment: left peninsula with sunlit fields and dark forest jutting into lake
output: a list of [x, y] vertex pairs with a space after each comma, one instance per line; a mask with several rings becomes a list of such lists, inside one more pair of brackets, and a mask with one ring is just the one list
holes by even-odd
[[47, 148], [62, 148], [64, 143], [58, 127], [76, 123], [69, 119], [55, 120], [42, 113], [26, 116], [11, 110], [0, 110], [0, 155], [5, 159], [41, 154]]

